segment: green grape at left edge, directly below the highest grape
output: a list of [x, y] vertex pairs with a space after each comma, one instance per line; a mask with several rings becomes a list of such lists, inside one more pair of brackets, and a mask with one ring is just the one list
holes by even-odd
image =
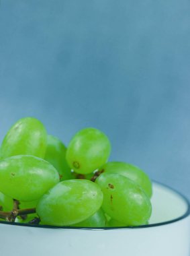
[[58, 182], [57, 170], [36, 156], [12, 156], [0, 161], [0, 191], [19, 201], [38, 200]]

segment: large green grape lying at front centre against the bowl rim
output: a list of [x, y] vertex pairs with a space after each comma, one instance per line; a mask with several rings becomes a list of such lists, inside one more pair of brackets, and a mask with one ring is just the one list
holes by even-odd
[[102, 201], [101, 189], [92, 181], [62, 181], [43, 195], [36, 212], [43, 224], [68, 226], [95, 214]]

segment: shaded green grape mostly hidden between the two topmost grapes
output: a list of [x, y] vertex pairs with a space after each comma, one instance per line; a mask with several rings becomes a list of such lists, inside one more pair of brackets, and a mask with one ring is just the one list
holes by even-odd
[[72, 173], [70, 172], [70, 167], [68, 166], [66, 159], [66, 147], [58, 139], [52, 135], [48, 135], [48, 144], [46, 148], [45, 160], [50, 162], [58, 170], [61, 180], [65, 181], [68, 179], [74, 179]]

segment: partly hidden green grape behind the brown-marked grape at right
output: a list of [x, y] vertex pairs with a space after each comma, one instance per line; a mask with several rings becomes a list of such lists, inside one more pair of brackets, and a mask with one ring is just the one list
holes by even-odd
[[107, 173], [117, 173], [124, 175], [125, 177], [140, 185], [148, 197], [152, 196], [152, 183], [148, 175], [137, 166], [127, 164], [126, 162], [107, 162], [101, 166], [100, 170], [103, 170], [103, 172]]

